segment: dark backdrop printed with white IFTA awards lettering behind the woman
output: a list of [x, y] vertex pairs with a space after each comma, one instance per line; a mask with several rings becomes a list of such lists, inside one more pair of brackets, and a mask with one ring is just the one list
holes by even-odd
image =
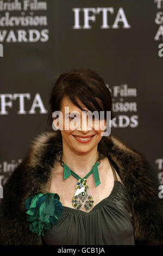
[[151, 162], [162, 198], [162, 40], [163, 0], [1, 0], [1, 194], [46, 130], [53, 81], [84, 68], [104, 78], [111, 133]]

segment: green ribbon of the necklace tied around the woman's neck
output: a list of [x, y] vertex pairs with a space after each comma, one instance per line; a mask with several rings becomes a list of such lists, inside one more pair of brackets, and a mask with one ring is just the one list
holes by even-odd
[[[87, 177], [89, 177], [89, 176], [91, 175], [91, 173], [93, 173], [93, 176], [94, 176], [94, 179], [95, 179], [96, 187], [97, 187], [99, 184], [101, 184], [101, 181], [100, 181], [100, 179], [99, 179], [99, 173], [98, 173], [98, 166], [99, 166], [99, 164], [100, 164], [99, 162], [96, 162], [96, 163], [93, 165], [93, 167], [92, 167], [92, 169], [90, 170], [90, 172], [89, 172], [88, 174], [86, 174], [86, 175], [84, 176], [84, 178], [83, 178], [83, 179], [87, 179]], [[73, 170], [71, 170], [66, 164], [62, 164], [62, 166], [64, 167], [64, 179], [67, 179], [68, 177], [70, 177], [71, 174], [72, 174], [75, 178], [77, 178], [78, 180], [79, 180], [79, 179], [82, 179], [82, 178], [80, 178], [80, 176], [79, 176], [78, 174], [74, 173]], [[82, 180], [83, 180], [83, 179], [82, 179]]]

